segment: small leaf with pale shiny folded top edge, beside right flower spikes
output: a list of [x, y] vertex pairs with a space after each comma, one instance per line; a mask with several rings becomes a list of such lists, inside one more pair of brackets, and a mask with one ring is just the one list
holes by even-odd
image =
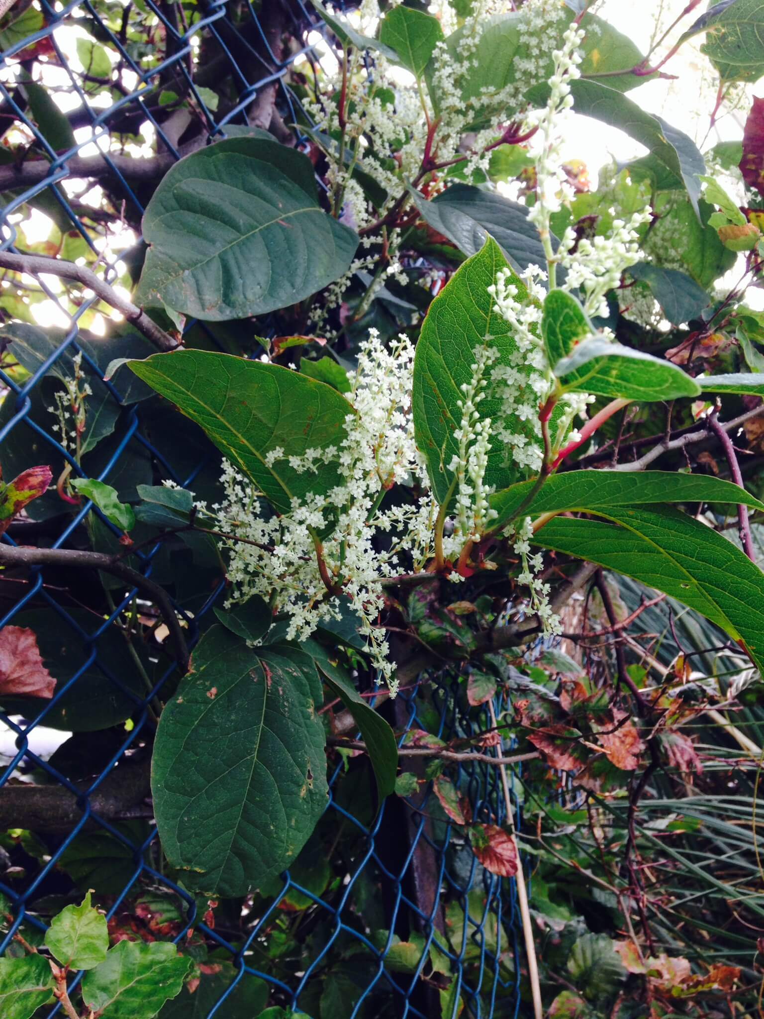
[[656, 401], [698, 396], [700, 386], [667, 361], [604, 337], [580, 343], [553, 368], [565, 392]]

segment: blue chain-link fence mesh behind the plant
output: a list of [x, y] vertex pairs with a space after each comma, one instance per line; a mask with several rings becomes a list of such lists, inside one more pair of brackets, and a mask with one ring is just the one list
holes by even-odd
[[[187, 151], [163, 103], [172, 107], [173, 95], [183, 97], [196, 124], [197, 147], [225, 137], [235, 125], [240, 130], [257, 122], [269, 90], [271, 97], [276, 92], [275, 106], [271, 98], [268, 107], [274, 117], [270, 126], [298, 120], [301, 90], [305, 95], [309, 71], [319, 59], [315, 11], [302, 3], [264, 0], [262, 6], [235, 8], [200, 3], [190, 24], [186, 15], [180, 4], [153, 0], [124, 5], [74, 0], [65, 7], [35, 0], [6, 16], [0, 30], [3, 129], [6, 138], [15, 132], [16, 152], [19, 141], [29, 150], [22, 161], [14, 154], [11, 162], [8, 150], [8, 158], [0, 159], [3, 249], [29, 250], [26, 238], [19, 240], [18, 223], [34, 207], [57, 224], [57, 254], [65, 257], [68, 246], [69, 257], [77, 257], [83, 252], [77, 246], [87, 245], [99, 255], [98, 271], [115, 280], [119, 232], [140, 222], [149, 177], [161, 175]], [[83, 30], [120, 68], [108, 106], [103, 78], [84, 62], [89, 44], [86, 56], [80, 53], [80, 68], [72, 69], [67, 59]], [[216, 112], [212, 90], [223, 77], [232, 89]], [[28, 87], [20, 88], [23, 83]], [[62, 93], [66, 101], [59, 99], [58, 105], [68, 111], [69, 142], [74, 140], [65, 149], [57, 144], [61, 124], [50, 103]], [[99, 212], [99, 202], [88, 195], [91, 187], [106, 190], [111, 211]], [[103, 380], [106, 365], [94, 312], [98, 299], [91, 291], [45, 275], [24, 277], [22, 283], [6, 278], [2, 287], [6, 321], [21, 317], [29, 326], [26, 332], [16, 327], [14, 344], [0, 362], [0, 460], [6, 479], [42, 463], [84, 473], [81, 457], [75, 455], [71, 438], [55, 430], [50, 410], [52, 384], [60, 388], [57, 380], [70, 379], [74, 359], [81, 356], [81, 384], [93, 390], [89, 399], [98, 409], [90, 427], [101, 428], [88, 432], [90, 476], [113, 485], [166, 479], [194, 490], [204, 487], [206, 472], [218, 468], [211, 447], [196, 433], [168, 435], [158, 427], [150, 403], [135, 394], [134, 380], [123, 377], [128, 373]], [[43, 333], [31, 314], [42, 302], [57, 308]], [[186, 331], [195, 328], [204, 329], [186, 323]], [[125, 341], [137, 341], [128, 333]], [[41, 335], [46, 337], [42, 344]], [[219, 332], [205, 341], [225, 348]], [[14, 346], [24, 351], [25, 372], [14, 370]], [[97, 547], [119, 547], [119, 530], [91, 502], [69, 506], [62, 516], [57, 498], [54, 493], [31, 506], [31, 519], [4, 540], [83, 547], [77, 536], [85, 531]], [[146, 577], [169, 583], [193, 645], [222, 585], [186, 595], [189, 575], [182, 557], [168, 562], [151, 542], [133, 552], [131, 561]], [[0, 861], [5, 865], [0, 891], [9, 908], [4, 924], [0, 920], [0, 953], [18, 951], [18, 931], [39, 942], [46, 920], [75, 897], [75, 887], [92, 887], [108, 907], [115, 936], [173, 940], [198, 963], [199, 985], [168, 1003], [163, 1017], [250, 1019], [266, 1004], [302, 1010], [313, 1019], [516, 1015], [521, 968], [514, 883], [479, 865], [463, 829], [450, 825], [439, 809], [424, 770], [416, 772], [416, 795], [405, 801], [392, 797], [375, 813], [368, 767], [358, 760], [332, 765], [326, 812], [294, 867], [234, 910], [226, 903], [210, 909], [163, 869], [146, 799], [146, 748], [155, 699], [174, 682], [174, 662], [164, 651], [145, 655], [125, 640], [129, 621], [152, 611], [144, 599], [141, 590], [87, 572], [67, 572], [64, 578], [60, 570], [45, 567], [3, 579], [0, 626], [35, 630], [57, 684], [52, 699], [38, 702], [39, 710], [28, 703], [16, 713], [0, 715], [15, 739], [0, 775], [0, 828], [11, 829]], [[444, 739], [473, 734], [476, 710], [467, 704], [463, 685], [425, 679], [400, 695], [396, 729], [426, 730]], [[84, 702], [93, 711], [86, 731], [77, 731], [52, 755], [41, 749], [41, 734], [67, 734], [67, 720]], [[497, 711], [502, 706], [497, 702]], [[489, 728], [486, 713], [481, 729]], [[495, 767], [462, 764], [453, 777], [476, 820], [501, 823], [504, 807]], [[23, 799], [29, 788], [19, 784], [30, 780], [37, 795], [32, 810]], [[132, 790], [129, 802], [125, 789]], [[73, 976], [72, 984], [78, 979]], [[48, 1011], [58, 1014], [60, 1006]]]

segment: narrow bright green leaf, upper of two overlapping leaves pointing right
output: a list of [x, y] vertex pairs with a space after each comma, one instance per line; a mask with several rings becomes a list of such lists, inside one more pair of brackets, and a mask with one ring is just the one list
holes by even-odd
[[[514, 519], [514, 514], [533, 489], [534, 481], [523, 481], [490, 497], [498, 517], [493, 527]], [[745, 489], [705, 474], [673, 471], [566, 471], [547, 478], [528, 508], [531, 517], [546, 513], [598, 513], [608, 506], [649, 505], [660, 502], [743, 503], [764, 511], [764, 502]]]

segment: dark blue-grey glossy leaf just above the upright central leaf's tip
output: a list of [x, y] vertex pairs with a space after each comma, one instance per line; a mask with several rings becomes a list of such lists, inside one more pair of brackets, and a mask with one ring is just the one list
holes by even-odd
[[516, 272], [546, 263], [539, 231], [524, 205], [471, 184], [451, 184], [432, 202], [414, 189], [410, 193], [426, 222], [465, 255], [476, 255], [490, 234]]

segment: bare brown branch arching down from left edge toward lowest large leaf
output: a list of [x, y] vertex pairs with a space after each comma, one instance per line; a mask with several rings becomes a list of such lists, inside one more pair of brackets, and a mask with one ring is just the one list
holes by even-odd
[[[170, 596], [148, 577], [138, 570], [121, 562], [118, 557], [105, 552], [91, 552], [73, 548], [33, 548], [32, 546], [0, 545], [0, 567], [80, 567], [87, 570], [102, 570], [104, 573], [118, 577], [130, 587], [138, 588], [154, 604], [162, 614], [172, 644], [173, 653], [177, 659], [181, 674], [188, 668], [188, 649], [185, 644], [182, 627], [180, 626]], [[18, 825], [16, 825], [18, 826]]]

